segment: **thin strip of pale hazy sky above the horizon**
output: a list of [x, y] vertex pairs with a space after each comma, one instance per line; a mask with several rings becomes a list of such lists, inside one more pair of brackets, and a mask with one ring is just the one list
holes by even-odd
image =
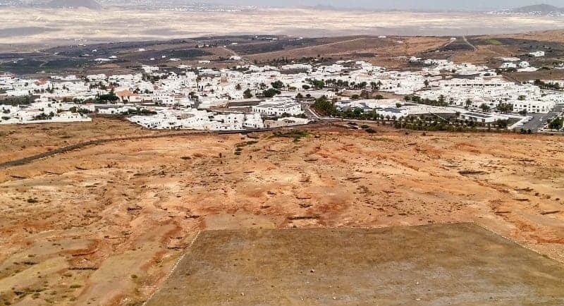
[[564, 0], [211, 0], [209, 2], [256, 6], [315, 6], [398, 10], [487, 10], [515, 8], [531, 4], [564, 7]]

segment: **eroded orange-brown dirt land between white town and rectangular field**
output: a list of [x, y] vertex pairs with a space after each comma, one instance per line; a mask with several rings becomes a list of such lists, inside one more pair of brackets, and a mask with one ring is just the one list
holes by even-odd
[[[103, 123], [63, 140], [2, 126], [0, 153]], [[564, 262], [564, 138], [374, 128], [109, 142], [0, 169], [0, 302], [142, 302], [204, 229], [473, 221]]]

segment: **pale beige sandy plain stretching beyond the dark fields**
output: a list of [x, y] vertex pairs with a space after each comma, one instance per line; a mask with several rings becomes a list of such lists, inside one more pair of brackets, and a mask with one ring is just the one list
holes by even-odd
[[561, 18], [548, 16], [312, 8], [257, 8], [240, 12], [1, 8], [0, 13], [4, 16], [0, 51], [212, 35], [488, 35], [564, 26]]

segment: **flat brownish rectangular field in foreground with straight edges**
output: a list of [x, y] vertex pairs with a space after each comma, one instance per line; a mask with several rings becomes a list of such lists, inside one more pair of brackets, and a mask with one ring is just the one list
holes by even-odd
[[564, 305], [564, 264], [474, 224], [204, 231], [147, 305]]

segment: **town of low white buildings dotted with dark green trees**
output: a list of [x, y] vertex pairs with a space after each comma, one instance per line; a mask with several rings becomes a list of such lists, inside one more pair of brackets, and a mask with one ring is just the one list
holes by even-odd
[[517, 67], [536, 69], [527, 61], [503, 59], [499, 68], [415, 56], [405, 61], [419, 68], [388, 71], [366, 61], [312, 59], [221, 69], [201, 61], [199, 67], [142, 66], [135, 74], [37, 80], [4, 74], [0, 124], [81, 122], [94, 115], [123, 116], [150, 129], [212, 131], [338, 118], [380, 119], [402, 127], [415, 121], [419, 128], [429, 121], [424, 126], [448, 123], [522, 133], [562, 129], [564, 80], [520, 83], [501, 75]]

